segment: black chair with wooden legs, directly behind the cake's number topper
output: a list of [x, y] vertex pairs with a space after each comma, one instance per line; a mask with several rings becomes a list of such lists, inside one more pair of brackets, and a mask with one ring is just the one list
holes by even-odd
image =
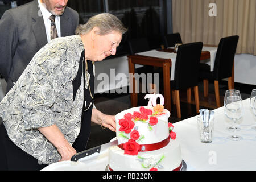
[[196, 111], [199, 113], [198, 76], [203, 43], [195, 42], [179, 46], [175, 62], [174, 81], [171, 81], [172, 98], [176, 104], [177, 117], [181, 118], [179, 90], [187, 89], [191, 103], [191, 88], [194, 89]]

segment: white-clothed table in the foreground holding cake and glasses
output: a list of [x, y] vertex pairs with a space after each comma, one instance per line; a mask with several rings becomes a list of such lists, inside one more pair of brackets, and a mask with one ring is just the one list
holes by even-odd
[[[212, 143], [201, 143], [195, 117], [174, 123], [174, 131], [181, 146], [181, 156], [187, 164], [187, 170], [256, 170], [256, 117], [250, 109], [249, 99], [243, 100], [245, 115], [240, 121], [243, 140], [226, 139], [230, 131], [230, 121], [225, 117], [224, 107], [214, 110], [214, 134]], [[105, 170], [108, 165], [108, 150], [95, 153], [77, 162], [58, 162], [44, 170]]]

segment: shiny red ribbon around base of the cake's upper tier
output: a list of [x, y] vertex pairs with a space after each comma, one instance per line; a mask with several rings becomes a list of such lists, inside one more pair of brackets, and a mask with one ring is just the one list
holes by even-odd
[[[152, 150], [158, 150], [160, 148], [163, 148], [167, 146], [167, 144], [170, 142], [170, 137], [168, 136], [166, 139], [162, 140], [158, 143], [152, 143], [152, 144], [140, 144], [139, 145], [139, 152], [147, 152]], [[124, 150], [123, 143], [118, 145], [119, 148]]]

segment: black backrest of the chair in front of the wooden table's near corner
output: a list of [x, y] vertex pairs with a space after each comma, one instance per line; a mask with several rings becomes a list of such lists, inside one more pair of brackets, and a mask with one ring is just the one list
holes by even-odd
[[182, 44], [177, 51], [175, 62], [175, 90], [198, 85], [199, 64], [203, 42]]

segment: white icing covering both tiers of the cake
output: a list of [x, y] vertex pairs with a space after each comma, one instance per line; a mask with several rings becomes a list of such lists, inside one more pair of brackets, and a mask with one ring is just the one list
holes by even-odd
[[[152, 98], [152, 97], [151, 97]], [[148, 107], [144, 106], [146, 109]], [[117, 139], [118, 143], [125, 143], [128, 139], [121, 137], [119, 134], [120, 125], [119, 119], [122, 119], [125, 114], [133, 114], [134, 111], [139, 112], [140, 107], [134, 107], [128, 110], [124, 110], [121, 113], [115, 115], [115, 121], [117, 125]], [[168, 118], [170, 117], [170, 112], [164, 109], [163, 115], [159, 115], [158, 123], [152, 127], [152, 130], [148, 128], [148, 121], [146, 123], [141, 121], [135, 121], [133, 130], [137, 130], [139, 134], [144, 136], [141, 141], [137, 140], [139, 144], [152, 144], [158, 143], [169, 137], [168, 129]], [[132, 131], [133, 131], [132, 130]], [[123, 133], [124, 134], [124, 133]], [[129, 136], [129, 134], [126, 134]], [[164, 158], [163, 158], [164, 157]], [[163, 160], [160, 160], [162, 159]], [[159, 162], [160, 161], [160, 162]], [[124, 170], [124, 171], [142, 171], [150, 170], [152, 167], [158, 168], [158, 170], [174, 170], [181, 164], [181, 150], [180, 144], [177, 139], [170, 139], [170, 143], [167, 146], [160, 148], [159, 150], [139, 152], [138, 155], [127, 155], [124, 154], [124, 150], [118, 146], [109, 148], [109, 166], [114, 171]], [[143, 164], [143, 165], [142, 165]], [[157, 164], [156, 166], [154, 166]], [[145, 168], [147, 167], [147, 168]]]

